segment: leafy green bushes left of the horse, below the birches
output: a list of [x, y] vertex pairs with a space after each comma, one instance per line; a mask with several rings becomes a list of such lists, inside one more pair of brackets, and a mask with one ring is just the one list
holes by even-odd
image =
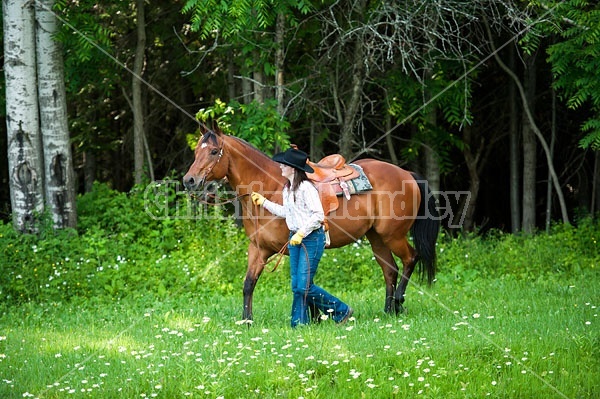
[[[21, 303], [232, 291], [245, 271], [236, 261], [246, 249], [243, 232], [215, 210], [189, 212], [194, 205], [177, 187], [126, 194], [98, 184], [78, 200], [79, 234], [48, 226], [19, 235], [0, 225], [0, 296]], [[170, 206], [173, 216], [153, 216], [157, 206]]]

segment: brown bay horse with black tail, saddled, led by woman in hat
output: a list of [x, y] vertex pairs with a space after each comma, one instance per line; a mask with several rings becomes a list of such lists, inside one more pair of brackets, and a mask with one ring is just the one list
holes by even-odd
[[[279, 164], [246, 141], [218, 129], [203, 129], [194, 162], [183, 177], [194, 191], [208, 181], [227, 179], [241, 203], [242, 223], [250, 240], [244, 280], [243, 320], [252, 320], [252, 294], [267, 260], [285, 248], [289, 230], [285, 220], [252, 204], [250, 193], [282, 203], [286, 181]], [[354, 162], [363, 168], [372, 191], [340, 197], [340, 206], [328, 217], [331, 245], [338, 248], [366, 236], [385, 279], [386, 313], [403, 310], [404, 294], [417, 263], [421, 277], [431, 284], [436, 272], [435, 244], [440, 228], [435, 199], [427, 182], [396, 165], [375, 159]], [[407, 234], [412, 229], [414, 248]], [[287, 250], [285, 250], [287, 252]], [[402, 261], [398, 285], [398, 266]]]

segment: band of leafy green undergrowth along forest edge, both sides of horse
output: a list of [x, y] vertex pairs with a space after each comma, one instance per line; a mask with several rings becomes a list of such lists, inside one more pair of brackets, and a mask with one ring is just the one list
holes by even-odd
[[[78, 213], [77, 232], [54, 231], [48, 224], [39, 235], [22, 235], [9, 224], [0, 225], [4, 303], [241, 291], [248, 245], [243, 230], [222, 209], [191, 202], [176, 181], [130, 193], [97, 184], [79, 198]], [[599, 238], [599, 222], [592, 219], [580, 220], [577, 227], [556, 225], [550, 234], [535, 236], [442, 236], [438, 281], [538, 281], [595, 270]], [[264, 274], [259, 292], [286, 291], [287, 270], [284, 259], [276, 273]], [[318, 283], [332, 292], [383, 290], [381, 270], [367, 241], [326, 251]], [[414, 283], [419, 284], [417, 279]]]

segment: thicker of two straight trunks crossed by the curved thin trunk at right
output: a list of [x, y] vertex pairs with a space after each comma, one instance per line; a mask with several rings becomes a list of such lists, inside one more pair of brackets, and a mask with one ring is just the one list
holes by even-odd
[[[526, 56], [523, 88], [526, 107], [535, 108], [535, 56]], [[523, 232], [535, 230], [537, 145], [531, 122], [523, 114]]]

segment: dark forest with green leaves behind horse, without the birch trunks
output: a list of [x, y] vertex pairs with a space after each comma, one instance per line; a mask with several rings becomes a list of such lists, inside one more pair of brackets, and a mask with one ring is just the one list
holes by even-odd
[[[76, 193], [179, 179], [201, 110], [268, 154], [291, 141], [314, 160], [374, 157], [468, 191], [451, 204], [467, 231], [531, 232], [600, 204], [595, 2], [28, 5], [57, 18]], [[0, 135], [5, 220], [12, 129]]]

